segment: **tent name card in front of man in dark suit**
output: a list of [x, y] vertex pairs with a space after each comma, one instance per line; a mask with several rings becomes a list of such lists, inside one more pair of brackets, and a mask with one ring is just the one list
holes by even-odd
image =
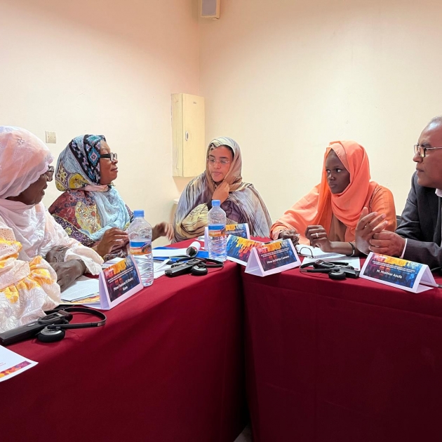
[[426, 264], [370, 253], [360, 274], [361, 278], [379, 282], [408, 292], [421, 293], [437, 287]]

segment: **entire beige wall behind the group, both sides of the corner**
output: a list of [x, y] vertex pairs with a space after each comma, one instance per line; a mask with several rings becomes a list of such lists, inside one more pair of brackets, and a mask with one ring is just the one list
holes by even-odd
[[239, 142], [273, 219], [345, 138], [366, 147], [400, 212], [413, 144], [442, 113], [442, 6], [221, 0], [220, 20], [198, 20], [197, 1], [0, 0], [0, 122], [55, 130], [55, 156], [76, 135], [106, 135], [119, 192], [156, 223], [188, 181], [170, 172], [170, 93], [203, 95], [206, 142]]

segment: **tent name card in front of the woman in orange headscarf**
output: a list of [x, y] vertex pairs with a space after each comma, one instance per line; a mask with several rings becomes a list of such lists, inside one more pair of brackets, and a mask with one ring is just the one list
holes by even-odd
[[290, 239], [278, 239], [255, 246], [248, 258], [246, 273], [267, 276], [294, 269], [301, 264]]

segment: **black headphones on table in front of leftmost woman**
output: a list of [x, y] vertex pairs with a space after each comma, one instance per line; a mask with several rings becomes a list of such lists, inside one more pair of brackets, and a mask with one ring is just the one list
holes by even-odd
[[[101, 327], [106, 323], [106, 315], [98, 310], [89, 309], [88, 307], [65, 307], [62, 309], [51, 310], [46, 312], [48, 315], [53, 313], [63, 312], [62, 314], [66, 319], [63, 319], [63, 323], [51, 324], [43, 328], [37, 335], [37, 339], [41, 342], [57, 342], [65, 337], [65, 330], [68, 328], [90, 328], [90, 327]], [[100, 319], [97, 322], [79, 323], [79, 324], [69, 324], [73, 315], [71, 313], [86, 313], [96, 316]]]

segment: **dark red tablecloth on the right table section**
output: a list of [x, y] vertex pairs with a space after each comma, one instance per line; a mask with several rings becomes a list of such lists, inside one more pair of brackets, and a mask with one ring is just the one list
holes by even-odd
[[442, 290], [243, 274], [254, 442], [441, 442]]

